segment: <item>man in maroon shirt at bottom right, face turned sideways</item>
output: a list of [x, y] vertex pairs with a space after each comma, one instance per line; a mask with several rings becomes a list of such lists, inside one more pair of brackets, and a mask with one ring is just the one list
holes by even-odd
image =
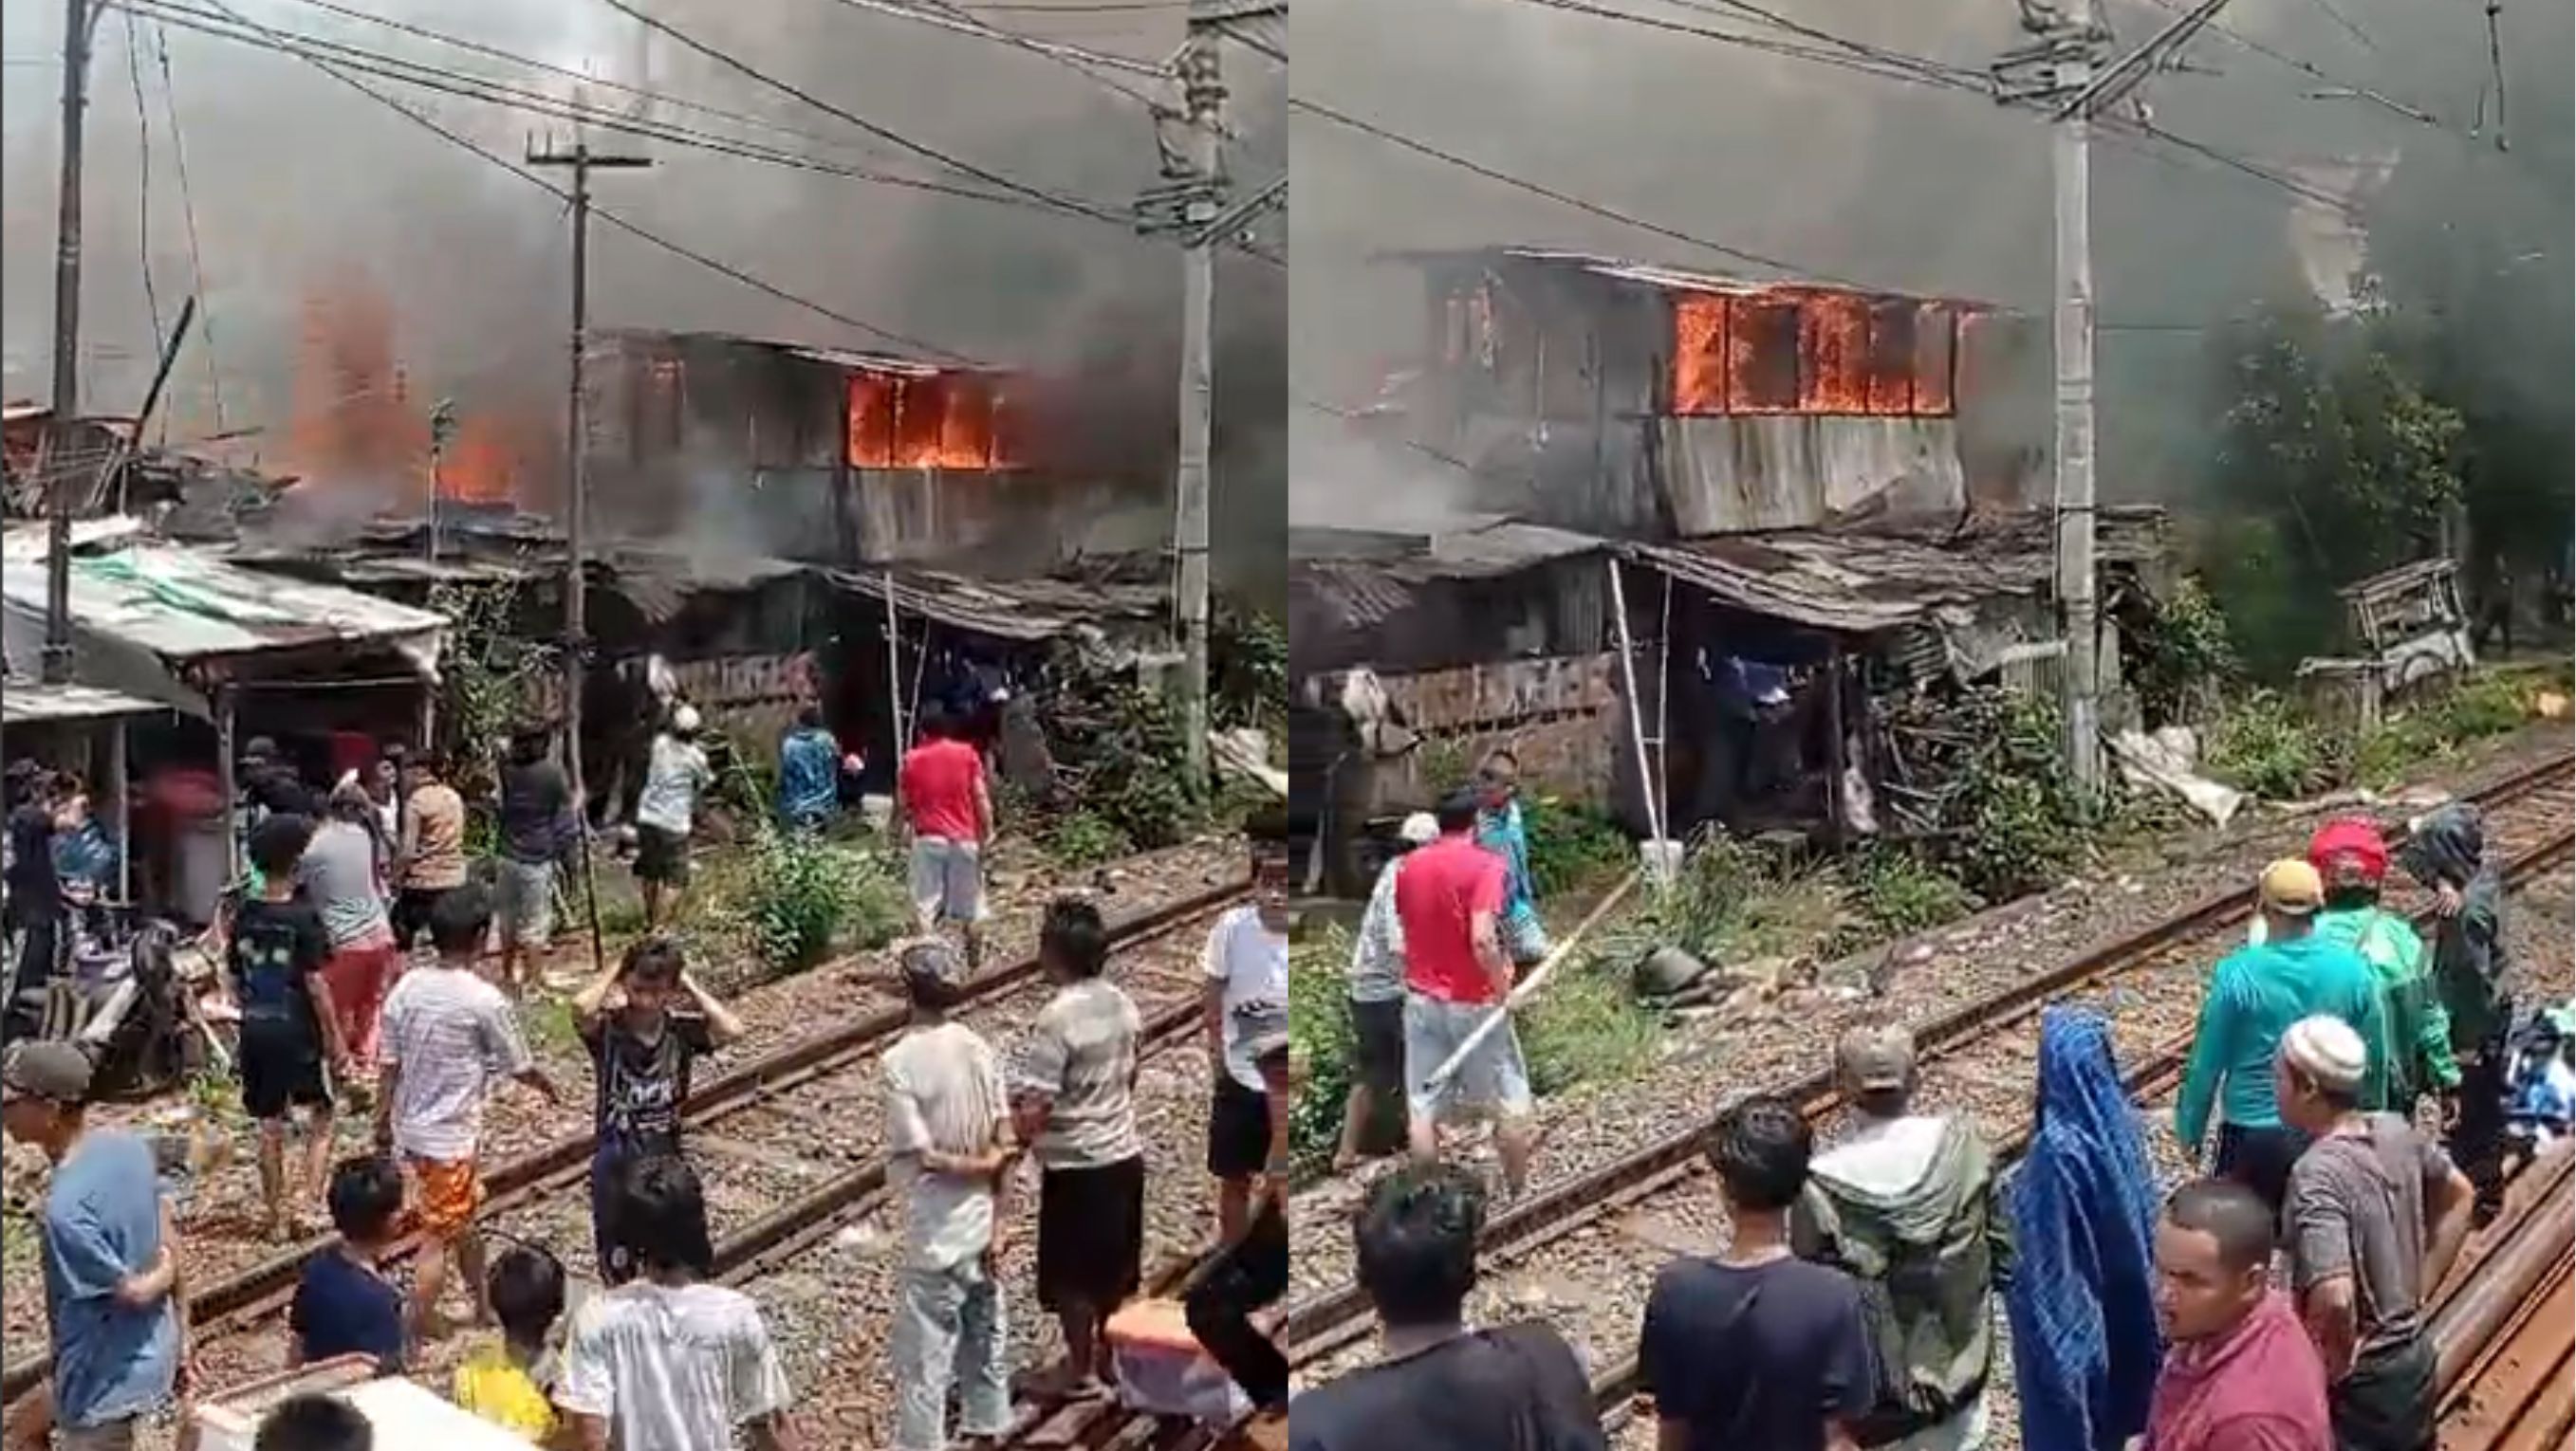
[[2156, 1225], [2156, 1320], [2172, 1346], [2146, 1451], [2334, 1451], [2326, 1366], [2272, 1289], [2272, 1207], [2228, 1178], [2184, 1183]]

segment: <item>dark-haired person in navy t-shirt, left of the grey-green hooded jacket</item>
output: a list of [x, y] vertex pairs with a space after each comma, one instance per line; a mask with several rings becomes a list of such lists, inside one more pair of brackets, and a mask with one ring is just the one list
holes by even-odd
[[1783, 1099], [1747, 1099], [1708, 1135], [1734, 1237], [1654, 1279], [1641, 1389], [1674, 1451], [1852, 1451], [1878, 1400], [1860, 1284], [1790, 1253], [1788, 1212], [1816, 1137]]

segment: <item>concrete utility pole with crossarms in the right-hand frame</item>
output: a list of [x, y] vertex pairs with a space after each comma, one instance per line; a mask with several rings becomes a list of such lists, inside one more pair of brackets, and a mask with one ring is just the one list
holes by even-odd
[[2102, 625], [2094, 579], [2094, 286], [2092, 121], [2117, 105], [2228, 0], [2200, 0], [2154, 39], [2105, 64], [2110, 31], [2094, 0], [2025, 5], [2038, 41], [1996, 59], [1996, 98], [2043, 103], [2056, 121], [2056, 525], [2058, 607], [2066, 617], [2066, 769], [2087, 798], [2102, 790]]

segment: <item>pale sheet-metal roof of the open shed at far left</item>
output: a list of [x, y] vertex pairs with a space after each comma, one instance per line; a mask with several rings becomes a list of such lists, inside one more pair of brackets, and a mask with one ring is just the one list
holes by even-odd
[[[430, 671], [446, 638], [446, 615], [430, 610], [258, 574], [206, 551], [118, 538], [118, 530], [103, 530], [103, 538], [108, 543], [93, 548], [80, 548], [75, 538], [72, 625], [165, 661], [371, 641], [412, 653]], [[41, 522], [10, 530], [5, 558], [21, 566], [0, 581], [10, 610], [44, 617], [46, 556]]]

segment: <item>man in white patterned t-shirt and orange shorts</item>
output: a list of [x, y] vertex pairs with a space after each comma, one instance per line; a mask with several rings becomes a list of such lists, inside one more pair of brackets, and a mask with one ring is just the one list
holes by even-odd
[[492, 1081], [515, 1078], [559, 1101], [554, 1081], [528, 1057], [510, 998], [474, 970], [489, 929], [492, 900], [482, 888], [438, 898], [430, 908], [438, 960], [404, 972], [384, 1001], [376, 1142], [402, 1155], [428, 1240], [412, 1281], [412, 1335], [420, 1340], [446, 1330], [438, 1297], [451, 1261], [474, 1297], [474, 1322], [489, 1320], [482, 1237], [474, 1235], [484, 1194], [474, 1147]]

